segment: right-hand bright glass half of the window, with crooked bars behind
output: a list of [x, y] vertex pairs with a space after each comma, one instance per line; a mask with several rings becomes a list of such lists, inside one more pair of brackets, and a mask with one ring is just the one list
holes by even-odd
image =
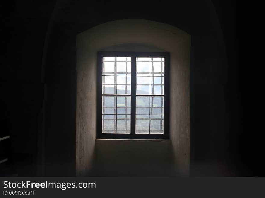
[[164, 58], [136, 58], [136, 134], [164, 134]]

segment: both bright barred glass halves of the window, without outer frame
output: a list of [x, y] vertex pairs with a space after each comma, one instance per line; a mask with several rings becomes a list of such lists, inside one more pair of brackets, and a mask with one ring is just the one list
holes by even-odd
[[[164, 134], [164, 58], [136, 58], [136, 134]], [[102, 58], [102, 133], [130, 134], [131, 58]]]

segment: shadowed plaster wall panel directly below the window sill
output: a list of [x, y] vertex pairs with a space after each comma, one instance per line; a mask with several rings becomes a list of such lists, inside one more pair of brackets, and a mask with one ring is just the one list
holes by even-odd
[[170, 140], [100, 140], [93, 176], [176, 176]]

